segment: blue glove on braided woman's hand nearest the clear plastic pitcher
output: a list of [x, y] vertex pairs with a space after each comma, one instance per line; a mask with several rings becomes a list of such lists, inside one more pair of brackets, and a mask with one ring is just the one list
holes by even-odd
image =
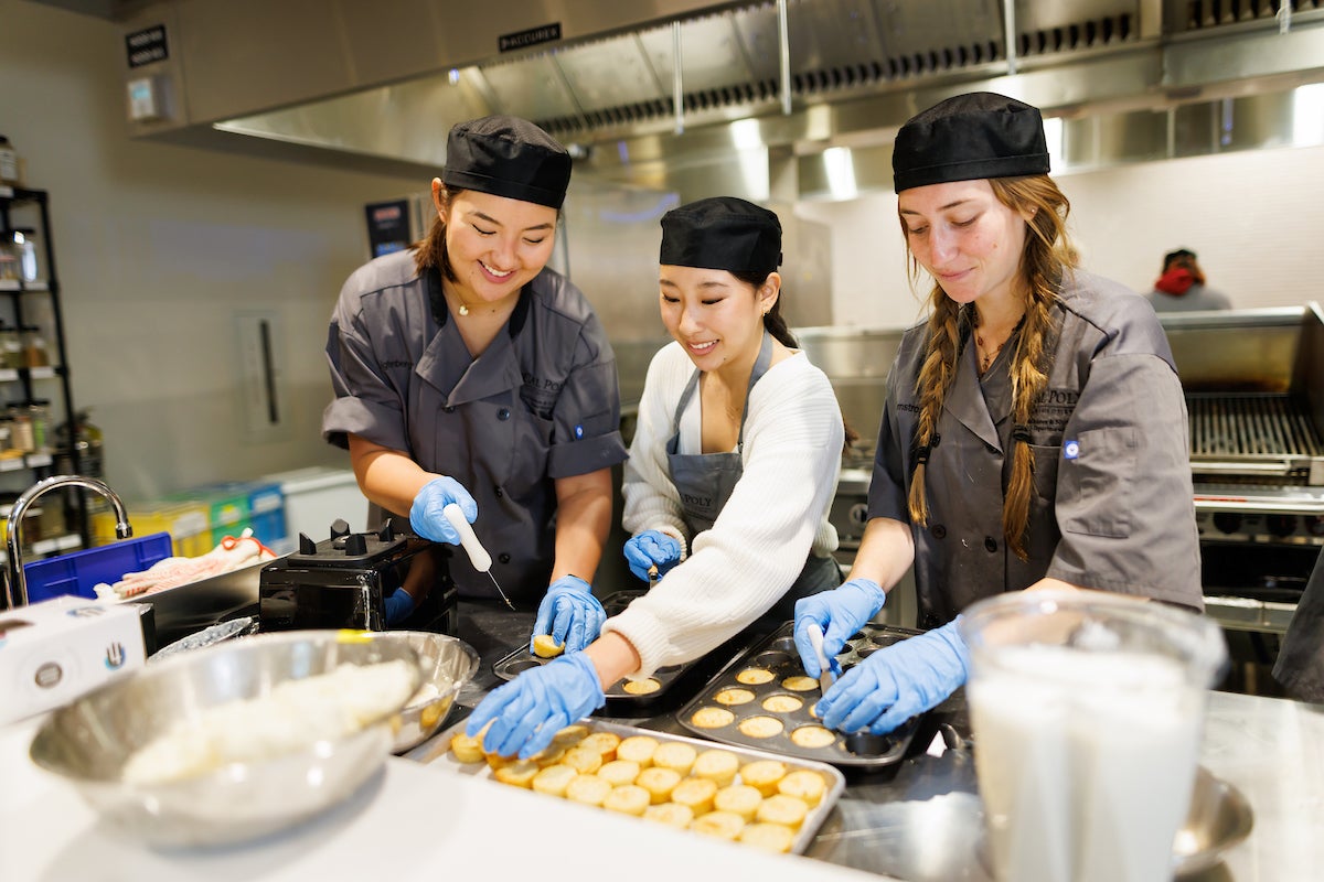
[[883, 647], [846, 672], [818, 701], [824, 726], [886, 735], [940, 705], [965, 682], [970, 653], [956, 621]]

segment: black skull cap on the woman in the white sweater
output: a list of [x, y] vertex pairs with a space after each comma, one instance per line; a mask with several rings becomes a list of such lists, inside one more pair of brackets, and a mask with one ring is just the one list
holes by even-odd
[[662, 216], [658, 262], [768, 275], [781, 266], [781, 222], [733, 196], [688, 202]]

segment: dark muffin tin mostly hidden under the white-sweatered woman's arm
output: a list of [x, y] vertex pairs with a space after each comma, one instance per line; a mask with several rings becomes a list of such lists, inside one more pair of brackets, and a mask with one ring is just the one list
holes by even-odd
[[[647, 588], [624, 588], [602, 598], [602, 610], [608, 618], [622, 612], [636, 598], [647, 594]], [[744, 633], [736, 635], [712, 652], [683, 665], [658, 668], [649, 678], [653, 692], [637, 693], [629, 680], [618, 680], [604, 690], [606, 703], [596, 713], [604, 717], [651, 717], [677, 705], [703, 686], [724, 664], [748, 645]], [[551, 659], [540, 659], [528, 651], [526, 643], [510, 655], [493, 664], [493, 673], [502, 680], [514, 680], [520, 672], [545, 665]]]

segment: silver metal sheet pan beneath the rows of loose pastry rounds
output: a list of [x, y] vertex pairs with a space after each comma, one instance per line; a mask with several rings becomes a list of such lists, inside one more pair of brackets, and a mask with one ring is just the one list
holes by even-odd
[[[496, 784], [499, 787], [512, 787], [512, 784], [502, 784], [495, 778], [493, 778], [493, 768], [486, 762], [461, 763], [459, 760], [455, 759], [455, 755], [450, 752], [450, 739], [465, 730], [466, 722], [467, 721], [461, 721], [454, 726], [448, 727], [436, 738], [425, 742], [422, 746], [422, 751], [416, 750], [408, 754], [406, 756], [409, 759], [414, 759], [424, 764], [440, 766], [442, 768], [454, 771], [459, 775], [471, 775], [475, 778], [483, 778], [491, 780], [493, 784]], [[651, 729], [626, 726], [624, 723], [613, 723], [604, 719], [593, 719], [589, 717], [581, 719], [580, 723], [588, 726], [591, 733], [593, 731], [614, 733], [622, 739], [629, 738], [630, 735], [647, 735], [649, 738], [655, 738], [661, 743], [682, 742], [690, 744], [700, 754], [706, 750], [715, 750], [715, 748], [727, 750], [736, 755], [736, 758], [740, 760], [741, 767], [757, 759], [775, 759], [784, 763], [786, 766], [788, 772], [793, 772], [797, 770], [809, 770], [818, 772], [826, 782], [828, 789], [824, 792], [824, 797], [818, 801], [818, 804], [809, 809], [809, 813], [805, 815], [805, 820], [801, 822], [800, 829], [796, 832], [796, 838], [790, 844], [790, 850], [794, 854], [804, 854], [805, 849], [809, 848], [809, 844], [814, 841], [814, 836], [818, 833], [818, 828], [822, 826], [822, 822], [825, 820], [828, 820], [828, 816], [831, 813], [831, 809], [837, 804], [837, 800], [846, 789], [846, 778], [841, 774], [841, 771], [826, 763], [779, 756], [776, 754], [769, 754], [761, 750], [751, 750], [748, 747], [737, 747], [737, 746], [716, 747], [710, 741], [687, 738], [686, 735], [673, 735], [669, 733], [654, 731]], [[736, 774], [735, 780], [736, 783], [740, 782], [739, 774]], [[536, 791], [530, 791], [530, 792], [536, 792]], [[561, 799], [559, 796], [548, 796], [542, 793], [539, 796], [548, 800]], [[625, 815], [622, 817], [633, 817], [633, 816]], [[638, 820], [643, 822], [643, 819]], [[694, 833], [694, 834], [706, 836], [704, 833]], [[737, 842], [737, 845], [743, 844]]]

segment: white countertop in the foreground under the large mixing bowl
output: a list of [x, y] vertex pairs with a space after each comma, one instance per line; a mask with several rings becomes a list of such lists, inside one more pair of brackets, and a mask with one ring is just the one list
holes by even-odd
[[32, 721], [0, 729], [4, 882], [518, 882], [608, 875], [678, 882], [736, 869], [761, 882], [880, 878], [397, 758], [348, 801], [285, 833], [228, 848], [152, 850], [117, 836], [71, 787], [32, 764], [34, 731]]

